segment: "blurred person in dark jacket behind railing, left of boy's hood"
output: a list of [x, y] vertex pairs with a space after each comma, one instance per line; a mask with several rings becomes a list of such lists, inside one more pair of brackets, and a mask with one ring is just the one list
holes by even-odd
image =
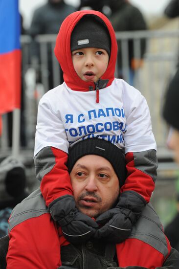
[[[70, 13], [76, 11], [76, 8], [72, 5], [66, 4], [64, 0], [48, 0], [46, 4], [37, 8], [34, 11], [32, 22], [28, 30], [28, 34], [32, 37], [32, 43], [30, 45], [30, 62], [33, 67], [36, 68], [37, 81], [41, 81], [40, 74], [40, 48], [39, 44], [35, 42], [34, 38], [37, 35], [45, 34], [58, 34], [59, 27], [64, 21], [64, 19]], [[48, 82], [49, 89], [55, 87], [53, 83], [52, 75], [52, 48], [51, 44], [48, 44]], [[60, 72], [60, 68], [59, 68]], [[61, 73], [61, 81], [63, 80], [63, 74]], [[46, 89], [45, 89], [46, 90]]]

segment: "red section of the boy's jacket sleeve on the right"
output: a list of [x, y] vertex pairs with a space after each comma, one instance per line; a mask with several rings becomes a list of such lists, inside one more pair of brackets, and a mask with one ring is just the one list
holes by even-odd
[[134, 165], [134, 154], [129, 152], [125, 156], [127, 178], [125, 184], [121, 188], [121, 193], [124, 191], [135, 191], [140, 194], [146, 202], [150, 201], [152, 192], [155, 188], [153, 178], [144, 173], [142, 170], [137, 169]]

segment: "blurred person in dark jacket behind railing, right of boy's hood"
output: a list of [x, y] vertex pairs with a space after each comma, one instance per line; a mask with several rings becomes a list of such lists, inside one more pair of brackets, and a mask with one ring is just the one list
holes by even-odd
[[[110, 21], [115, 32], [120, 31], [137, 31], [147, 30], [147, 23], [140, 12], [140, 10], [132, 5], [127, 0], [110, 0], [109, 6], [112, 10]], [[121, 43], [118, 44], [118, 69], [119, 77], [123, 77], [122, 73], [122, 55], [121, 55]], [[134, 55], [134, 40], [128, 42], [128, 55], [129, 68], [130, 68], [130, 84], [134, 83], [134, 74], [142, 66], [142, 59], [146, 51], [146, 40], [140, 40], [140, 55]], [[138, 57], [138, 58], [137, 58]], [[124, 78], [126, 79], [126, 78]]]

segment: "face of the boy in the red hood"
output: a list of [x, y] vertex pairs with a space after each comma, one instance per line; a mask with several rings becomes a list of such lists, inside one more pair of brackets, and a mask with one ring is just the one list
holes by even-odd
[[87, 47], [72, 52], [73, 67], [86, 82], [96, 82], [106, 71], [109, 55], [105, 49]]

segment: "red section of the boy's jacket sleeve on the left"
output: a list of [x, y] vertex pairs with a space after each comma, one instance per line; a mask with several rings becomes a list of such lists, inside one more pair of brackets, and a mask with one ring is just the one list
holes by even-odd
[[[41, 181], [41, 192], [47, 206], [55, 199], [73, 193], [67, 170], [67, 153], [53, 147], [51, 147], [51, 151], [54, 157], [54, 165]], [[48, 165], [47, 160], [48, 157], [46, 158], [46, 165]]]

